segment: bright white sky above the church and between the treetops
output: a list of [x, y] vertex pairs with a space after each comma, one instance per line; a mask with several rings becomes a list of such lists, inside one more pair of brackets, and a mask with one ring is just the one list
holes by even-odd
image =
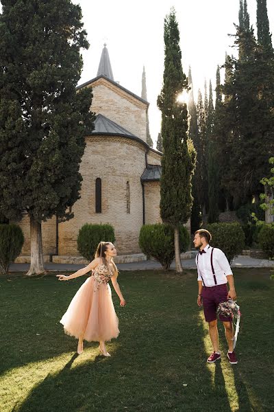
[[[238, 23], [239, 0], [73, 0], [82, 7], [90, 48], [82, 52], [84, 69], [79, 84], [97, 75], [103, 43], [107, 44], [114, 80], [137, 95], [142, 89], [142, 67], [147, 78], [151, 138], [161, 128], [157, 97], [164, 70], [164, 17], [174, 6], [180, 32], [182, 64], [191, 66], [195, 98], [205, 79], [215, 87], [216, 67], [225, 52], [236, 54], [233, 38]], [[256, 28], [256, 0], [248, 0], [251, 24]], [[267, 1], [270, 31], [274, 33], [274, 1]]]

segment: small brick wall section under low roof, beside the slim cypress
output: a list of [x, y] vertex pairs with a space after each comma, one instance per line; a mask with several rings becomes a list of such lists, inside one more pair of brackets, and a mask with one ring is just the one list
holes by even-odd
[[145, 223], [161, 223], [160, 216], [160, 182], [145, 183]]

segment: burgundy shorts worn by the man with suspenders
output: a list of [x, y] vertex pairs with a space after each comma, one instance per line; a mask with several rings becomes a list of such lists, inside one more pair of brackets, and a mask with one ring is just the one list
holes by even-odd
[[[216, 285], [208, 288], [203, 286], [201, 292], [203, 298], [203, 312], [207, 322], [215, 321], [217, 319], [216, 310], [221, 302], [227, 301], [227, 284]], [[220, 321], [232, 321], [231, 317], [220, 316]]]

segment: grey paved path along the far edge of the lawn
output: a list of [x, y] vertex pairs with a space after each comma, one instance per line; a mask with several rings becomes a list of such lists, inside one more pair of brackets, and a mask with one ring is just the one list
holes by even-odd
[[[75, 272], [80, 268], [83, 268], [84, 264], [58, 264], [58, 263], [45, 263], [45, 268], [48, 271], [71, 271]], [[195, 259], [184, 259], [182, 260], [183, 268], [196, 269]], [[266, 259], [254, 259], [248, 256], [238, 256], [232, 262], [232, 267], [237, 268], [265, 268], [273, 267], [274, 260]], [[145, 260], [142, 262], [131, 262], [131, 263], [120, 263], [117, 264], [120, 271], [145, 271], [147, 269], [160, 269], [162, 266], [160, 263], [155, 262], [155, 260]], [[16, 263], [10, 265], [10, 272], [27, 272], [29, 264], [27, 263]], [[171, 268], [175, 268], [175, 262], [171, 264]]]

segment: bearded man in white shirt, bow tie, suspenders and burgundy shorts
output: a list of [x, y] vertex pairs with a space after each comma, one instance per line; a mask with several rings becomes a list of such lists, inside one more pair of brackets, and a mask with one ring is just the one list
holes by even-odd
[[[219, 336], [217, 329], [216, 310], [221, 302], [227, 299], [236, 299], [234, 278], [225, 253], [221, 249], [210, 247], [212, 236], [206, 229], [199, 229], [195, 232], [193, 240], [195, 248], [199, 249], [196, 257], [198, 271], [198, 306], [203, 306], [206, 321], [210, 332], [210, 339], [214, 352], [208, 358], [208, 363], [214, 363], [221, 359], [219, 351]], [[227, 290], [227, 282], [229, 291]], [[228, 343], [227, 358], [229, 363], [238, 363], [233, 350], [234, 330], [232, 319], [220, 315], [225, 327], [225, 337]]]

